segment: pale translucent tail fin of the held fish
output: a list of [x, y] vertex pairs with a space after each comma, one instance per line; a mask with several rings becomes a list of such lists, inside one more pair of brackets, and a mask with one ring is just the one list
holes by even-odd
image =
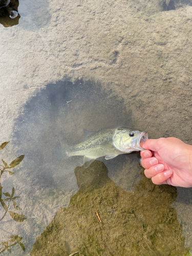
[[62, 144], [60, 141], [58, 141], [53, 150], [53, 155], [52, 155], [53, 162], [60, 162], [63, 159], [67, 159], [68, 158], [67, 149], [68, 149], [67, 144]]

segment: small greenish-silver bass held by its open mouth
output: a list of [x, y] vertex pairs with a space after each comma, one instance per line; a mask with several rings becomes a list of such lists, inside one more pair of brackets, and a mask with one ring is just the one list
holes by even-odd
[[96, 132], [83, 130], [84, 140], [74, 146], [58, 142], [53, 153], [53, 161], [61, 161], [72, 156], [84, 156], [84, 168], [94, 160], [105, 157], [113, 159], [121, 154], [143, 151], [140, 142], [148, 140], [145, 132], [129, 129], [127, 127], [104, 128]]

